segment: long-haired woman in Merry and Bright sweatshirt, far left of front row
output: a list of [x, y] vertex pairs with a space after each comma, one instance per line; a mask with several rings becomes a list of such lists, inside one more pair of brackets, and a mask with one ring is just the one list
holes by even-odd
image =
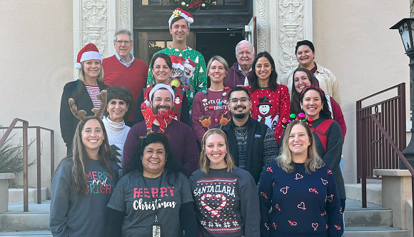
[[[104, 236], [106, 204], [119, 176], [101, 119], [90, 116], [78, 123], [73, 151], [59, 163], [51, 181], [51, 233]], [[96, 216], [90, 218], [85, 210]]]

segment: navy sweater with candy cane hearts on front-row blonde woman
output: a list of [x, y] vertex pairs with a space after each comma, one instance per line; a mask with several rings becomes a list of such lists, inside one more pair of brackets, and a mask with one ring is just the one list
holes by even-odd
[[[338, 188], [325, 165], [306, 173], [303, 163], [286, 173], [277, 161], [268, 163], [259, 186], [261, 236], [342, 236]], [[269, 210], [272, 211], [269, 213]]]

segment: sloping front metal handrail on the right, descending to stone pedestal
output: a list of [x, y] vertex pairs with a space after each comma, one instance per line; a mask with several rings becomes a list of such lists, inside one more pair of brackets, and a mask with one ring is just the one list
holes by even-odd
[[[390, 135], [388, 135], [387, 131], [385, 131], [385, 128], [380, 123], [380, 121], [378, 121], [378, 119], [375, 117], [374, 114], [370, 114], [368, 116], [363, 116], [360, 119], [362, 120], [362, 119], [368, 119], [368, 118], [373, 120], [375, 125], [380, 129], [380, 131], [383, 134], [385, 140], [387, 140], [388, 143], [390, 143], [390, 145], [393, 148], [393, 150], [395, 151], [395, 153], [397, 153], [397, 155], [400, 157], [400, 160], [403, 161], [403, 163], [407, 167], [408, 171], [410, 171], [410, 173], [411, 173], [411, 198], [414, 198], [414, 168], [413, 168], [413, 166], [411, 166], [411, 164], [407, 161], [407, 158], [405, 158], [403, 153], [400, 151], [398, 146], [394, 143], [394, 141], [390, 137]], [[366, 185], [366, 158], [363, 159], [362, 169], [363, 169], [363, 176], [362, 176], [361, 185], [364, 186], [364, 185]], [[362, 200], [363, 208], [366, 208], [367, 207], [366, 188], [365, 188], [365, 190], [363, 188], [363, 197], [362, 198], [363, 198], [363, 200]], [[413, 224], [414, 224], [414, 206], [413, 206]]]

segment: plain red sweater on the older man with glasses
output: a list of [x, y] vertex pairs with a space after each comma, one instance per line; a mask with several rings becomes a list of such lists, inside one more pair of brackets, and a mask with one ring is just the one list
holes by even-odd
[[[148, 66], [140, 59], [134, 59], [130, 66], [121, 64], [116, 56], [113, 55], [102, 61], [102, 68], [104, 69], [104, 84], [108, 86], [128, 86], [129, 91], [133, 96], [133, 101], [138, 99], [138, 95], [142, 89], [146, 88], [146, 78], [148, 76]], [[138, 105], [138, 109], [140, 108]], [[133, 121], [135, 114], [135, 107], [132, 109], [131, 116], [128, 121]]]

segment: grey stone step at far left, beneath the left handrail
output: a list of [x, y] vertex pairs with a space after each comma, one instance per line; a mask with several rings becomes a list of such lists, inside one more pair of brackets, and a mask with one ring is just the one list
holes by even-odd
[[0, 231], [49, 231], [50, 200], [29, 204], [29, 212], [22, 204], [9, 205], [9, 211], [0, 214]]

